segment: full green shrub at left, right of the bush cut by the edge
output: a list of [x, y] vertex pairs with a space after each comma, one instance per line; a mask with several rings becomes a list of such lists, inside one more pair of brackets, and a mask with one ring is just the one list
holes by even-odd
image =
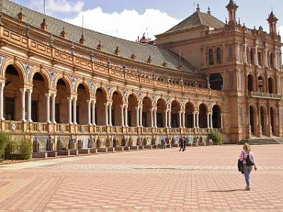
[[11, 139], [5, 149], [5, 158], [8, 160], [28, 160], [32, 154], [32, 142], [22, 136]]

